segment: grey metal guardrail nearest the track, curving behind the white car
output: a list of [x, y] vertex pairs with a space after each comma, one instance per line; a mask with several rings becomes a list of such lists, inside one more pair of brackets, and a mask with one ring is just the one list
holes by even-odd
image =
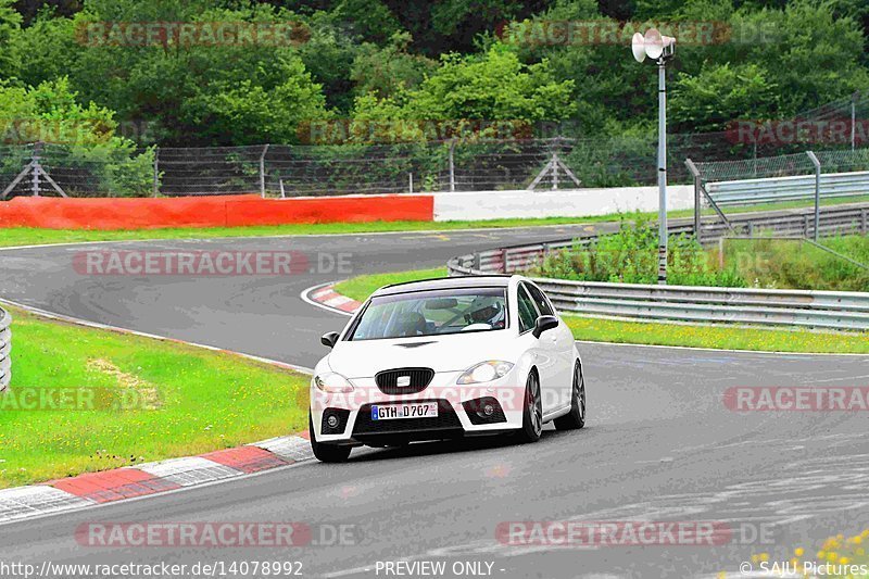
[[[855, 223], [855, 216], [857, 218]], [[866, 232], [865, 207], [841, 207], [822, 214], [826, 234]], [[802, 232], [803, 215], [744, 216], [739, 227], [765, 228], [781, 232]], [[690, 224], [676, 223], [670, 232], [690, 231]], [[708, 235], [708, 234], [707, 234]], [[719, 235], [720, 237], [720, 235]], [[453, 257], [448, 263], [451, 276], [504, 274], [521, 270], [543, 257], [545, 252], [585, 244], [578, 240], [503, 248]], [[562, 312], [583, 315], [718, 322], [758, 326], [791, 326], [869, 330], [869, 293], [708, 288], [688, 286], [645, 286], [536, 278]]]

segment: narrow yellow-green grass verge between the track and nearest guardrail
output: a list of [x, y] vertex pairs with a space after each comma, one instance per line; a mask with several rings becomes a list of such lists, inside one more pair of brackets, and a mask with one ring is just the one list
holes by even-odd
[[[336, 291], [364, 301], [387, 284], [400, 284], [446, 275], [445, 268], [417, 269], [354, 277], [336, 285]], [[808, 330], [776, 330], [733, 326], [625, 322], [565, 315], [577, 340], [651, 345], [681, 345], [764, 352], [815, 352], [869, 354], [866, 333], [833, 333]]]

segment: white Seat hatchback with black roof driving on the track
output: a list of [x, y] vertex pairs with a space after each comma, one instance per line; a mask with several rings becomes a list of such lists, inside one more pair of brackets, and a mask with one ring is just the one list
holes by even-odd
[[377, 290], [311, 380], [311, 445], [323, 462], [353, 446], [403, 445], [585, 424], [574, 336], [521, 276], [430, 279]]

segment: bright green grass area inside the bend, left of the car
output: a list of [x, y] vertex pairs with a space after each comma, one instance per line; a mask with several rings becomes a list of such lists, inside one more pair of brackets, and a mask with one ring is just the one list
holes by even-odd
[[[12, 399], [0, 394], [0, 488], [199, 454], [307, 427], [308, 378], [301, 374], [9, 310]], [[10, 410], [11, 400], [46, 388], [99, 392], [98, 401], [124, 392], [150, 408]]]

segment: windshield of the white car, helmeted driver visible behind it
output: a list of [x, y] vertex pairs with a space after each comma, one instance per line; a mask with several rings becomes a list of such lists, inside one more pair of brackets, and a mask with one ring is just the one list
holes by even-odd
[[504, 288], [457, 288], [371, 298], [350, 340], [491, 331], [507, 327]]

